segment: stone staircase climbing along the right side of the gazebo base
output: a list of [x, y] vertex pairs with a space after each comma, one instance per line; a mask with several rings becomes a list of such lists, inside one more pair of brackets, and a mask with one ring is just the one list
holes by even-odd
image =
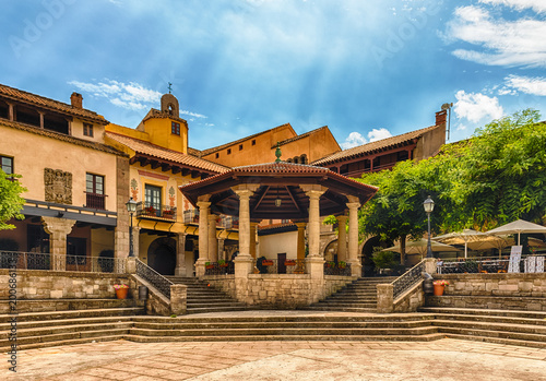
[[343, 287], [337, 293], [305, 309], [343, 312], [376, 312], [377, 285], [391, 283], [396, 277], [363, 277]]

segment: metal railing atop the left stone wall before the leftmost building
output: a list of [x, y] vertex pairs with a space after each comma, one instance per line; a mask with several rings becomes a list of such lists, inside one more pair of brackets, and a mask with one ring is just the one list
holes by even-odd
[[122, 258], [1, 251], [0, 267], [122, 274], [126, 272], [126, 260]]

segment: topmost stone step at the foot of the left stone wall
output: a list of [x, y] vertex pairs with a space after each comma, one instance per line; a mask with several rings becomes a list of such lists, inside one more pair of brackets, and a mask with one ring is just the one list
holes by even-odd
[[[135, 307], [134, 299], [17, 299], [16, 312], [67, 311]], [[0, 313], [10, 313], [8, 301], [0, 302]]]

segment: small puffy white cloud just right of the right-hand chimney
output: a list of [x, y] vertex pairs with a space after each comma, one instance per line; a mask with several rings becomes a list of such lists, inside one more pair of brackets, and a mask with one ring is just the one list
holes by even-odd
[[455, 98], [458, 102], [453, 111], [459, 119], [465, 118], [477, 123], [484, 118], [499, 119], [505, 112], [497, 97], [491, 98], [480, 93], [465, 93], [464, 90], [460, 90]]

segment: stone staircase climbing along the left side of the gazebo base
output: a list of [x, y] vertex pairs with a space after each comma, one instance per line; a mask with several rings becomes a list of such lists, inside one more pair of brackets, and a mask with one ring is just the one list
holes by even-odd
[[246, 310], [245, 303], [232, 299], [225, 293], [209, 286], [195, 277], [166, 276], [175, 284], [188, 286], [187, 313], [227, 312]]

